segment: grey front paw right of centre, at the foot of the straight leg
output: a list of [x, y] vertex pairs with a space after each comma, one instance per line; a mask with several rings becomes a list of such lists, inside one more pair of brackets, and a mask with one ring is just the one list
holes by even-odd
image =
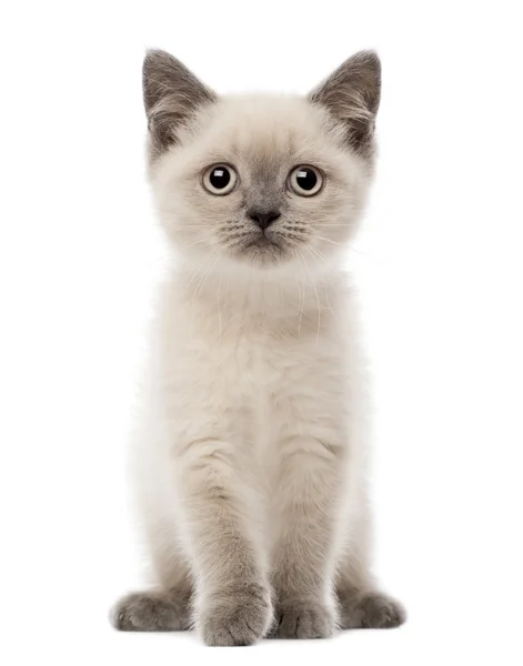
[[329, 638], [336, 626], [334, 613], [310, 599], [282, 602], [271, 633], [276, 638]]

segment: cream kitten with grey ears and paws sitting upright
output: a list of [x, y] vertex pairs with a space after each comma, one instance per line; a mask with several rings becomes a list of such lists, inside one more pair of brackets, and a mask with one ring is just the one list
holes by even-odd
[[150, 176], [175, 255], [160, 294], [137, 488], [158, 588], [124, 630], [209, 645], [392, 627], [369, 571], [364, 396], [340, 269], [372, 178], [380, 61], [308, 98], [218, 97], [147, 54]]

